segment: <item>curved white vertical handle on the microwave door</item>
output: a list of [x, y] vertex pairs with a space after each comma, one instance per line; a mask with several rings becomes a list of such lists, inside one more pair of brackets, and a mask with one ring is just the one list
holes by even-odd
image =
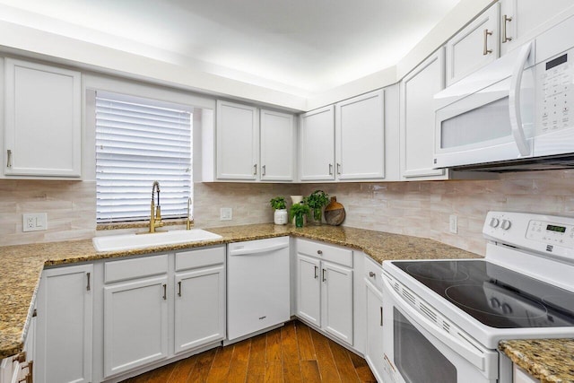
[[524, 134], [524, 126], [522, 126], [522, 113], [520, 109], [520, 85], [522, 84], [522, 73], [524, 72], [528, 56], [532, 50], [532, 43], [526, 44], [522, 47], [518, 54], [518, 62], [514, 68], [512, 79], [510, 81], [509, 91], [509, 113], [510, 113], [510, 127], [512, 128], [512, 135], [517, 144], [520, 156], [526, 157], [530, 155], [530, 145], [526, 140]]

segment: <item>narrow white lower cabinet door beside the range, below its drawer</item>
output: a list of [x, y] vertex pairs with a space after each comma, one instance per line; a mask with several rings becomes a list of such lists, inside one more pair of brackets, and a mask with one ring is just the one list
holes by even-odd
[[367, 348], [365, 360], [378, 381], [383, 376], [383, 294], [365, 279], [367, 302]]

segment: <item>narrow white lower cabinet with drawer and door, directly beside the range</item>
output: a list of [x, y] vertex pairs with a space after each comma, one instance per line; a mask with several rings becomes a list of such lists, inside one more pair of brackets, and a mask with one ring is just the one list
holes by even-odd
[[380, 265], [376, 265], [369, 258], [365, 258], [365, 308], [366, 344], [365, 360], [373, 371], [375, 378], [380, 382], [383, 376], [383, 292], [382, 274]]

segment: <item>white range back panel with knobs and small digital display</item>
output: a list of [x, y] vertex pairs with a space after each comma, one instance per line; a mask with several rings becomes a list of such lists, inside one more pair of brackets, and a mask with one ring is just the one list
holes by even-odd
[[574, 259], [574, 218], [546, 214], [489, 212], [487, 239], [545, 255]]

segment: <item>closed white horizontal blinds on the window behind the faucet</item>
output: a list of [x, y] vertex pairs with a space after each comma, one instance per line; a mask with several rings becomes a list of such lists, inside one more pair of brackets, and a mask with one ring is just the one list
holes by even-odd
[[96, 92], [97, 221], [149, 219], [155, 180], [161, 216], [187, 216], [191, 131], [191, 112], [178, 105]]

